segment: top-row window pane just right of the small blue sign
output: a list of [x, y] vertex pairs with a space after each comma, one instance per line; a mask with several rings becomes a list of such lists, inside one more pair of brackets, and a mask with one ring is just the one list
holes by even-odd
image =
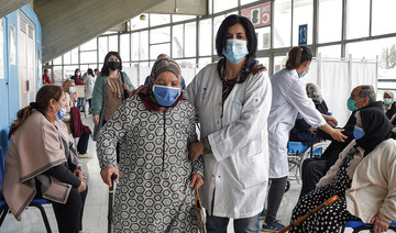
[[342, 0], [319, 0], [319, 43], [341, 40]]

